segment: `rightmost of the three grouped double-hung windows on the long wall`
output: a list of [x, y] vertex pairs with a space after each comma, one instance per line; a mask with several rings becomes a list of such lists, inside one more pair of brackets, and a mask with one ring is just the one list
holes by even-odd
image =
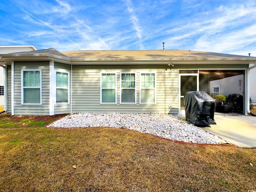
[[156, 104], [155, 73], [140, 73], [140, 104]]

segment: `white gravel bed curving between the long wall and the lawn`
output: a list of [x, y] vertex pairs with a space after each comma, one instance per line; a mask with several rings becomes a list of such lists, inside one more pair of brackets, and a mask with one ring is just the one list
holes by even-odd
[[188, 124], [170, 114], [76, 113], [53, 122], [48, 127], [113, 127], [150, 133], [170, 140], [202, 144], [224, 144], [223, 139]]

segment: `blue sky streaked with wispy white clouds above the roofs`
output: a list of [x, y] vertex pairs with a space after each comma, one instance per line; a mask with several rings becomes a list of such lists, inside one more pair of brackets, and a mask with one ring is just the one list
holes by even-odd
[[256, 56], [255, 0], [1, 0], [0, 45]]

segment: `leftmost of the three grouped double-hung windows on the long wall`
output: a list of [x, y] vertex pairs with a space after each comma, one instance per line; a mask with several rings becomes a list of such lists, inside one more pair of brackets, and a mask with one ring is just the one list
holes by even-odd
[[100, 82], [100, 103], [116, 104], [116, 74], [101, 73]]

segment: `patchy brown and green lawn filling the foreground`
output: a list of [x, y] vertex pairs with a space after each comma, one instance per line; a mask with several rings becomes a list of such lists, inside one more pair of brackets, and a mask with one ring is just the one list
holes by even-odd
[[256, 190], [256, 149], [42, 127], [59, 117], [0, 116], [0, 191]]

